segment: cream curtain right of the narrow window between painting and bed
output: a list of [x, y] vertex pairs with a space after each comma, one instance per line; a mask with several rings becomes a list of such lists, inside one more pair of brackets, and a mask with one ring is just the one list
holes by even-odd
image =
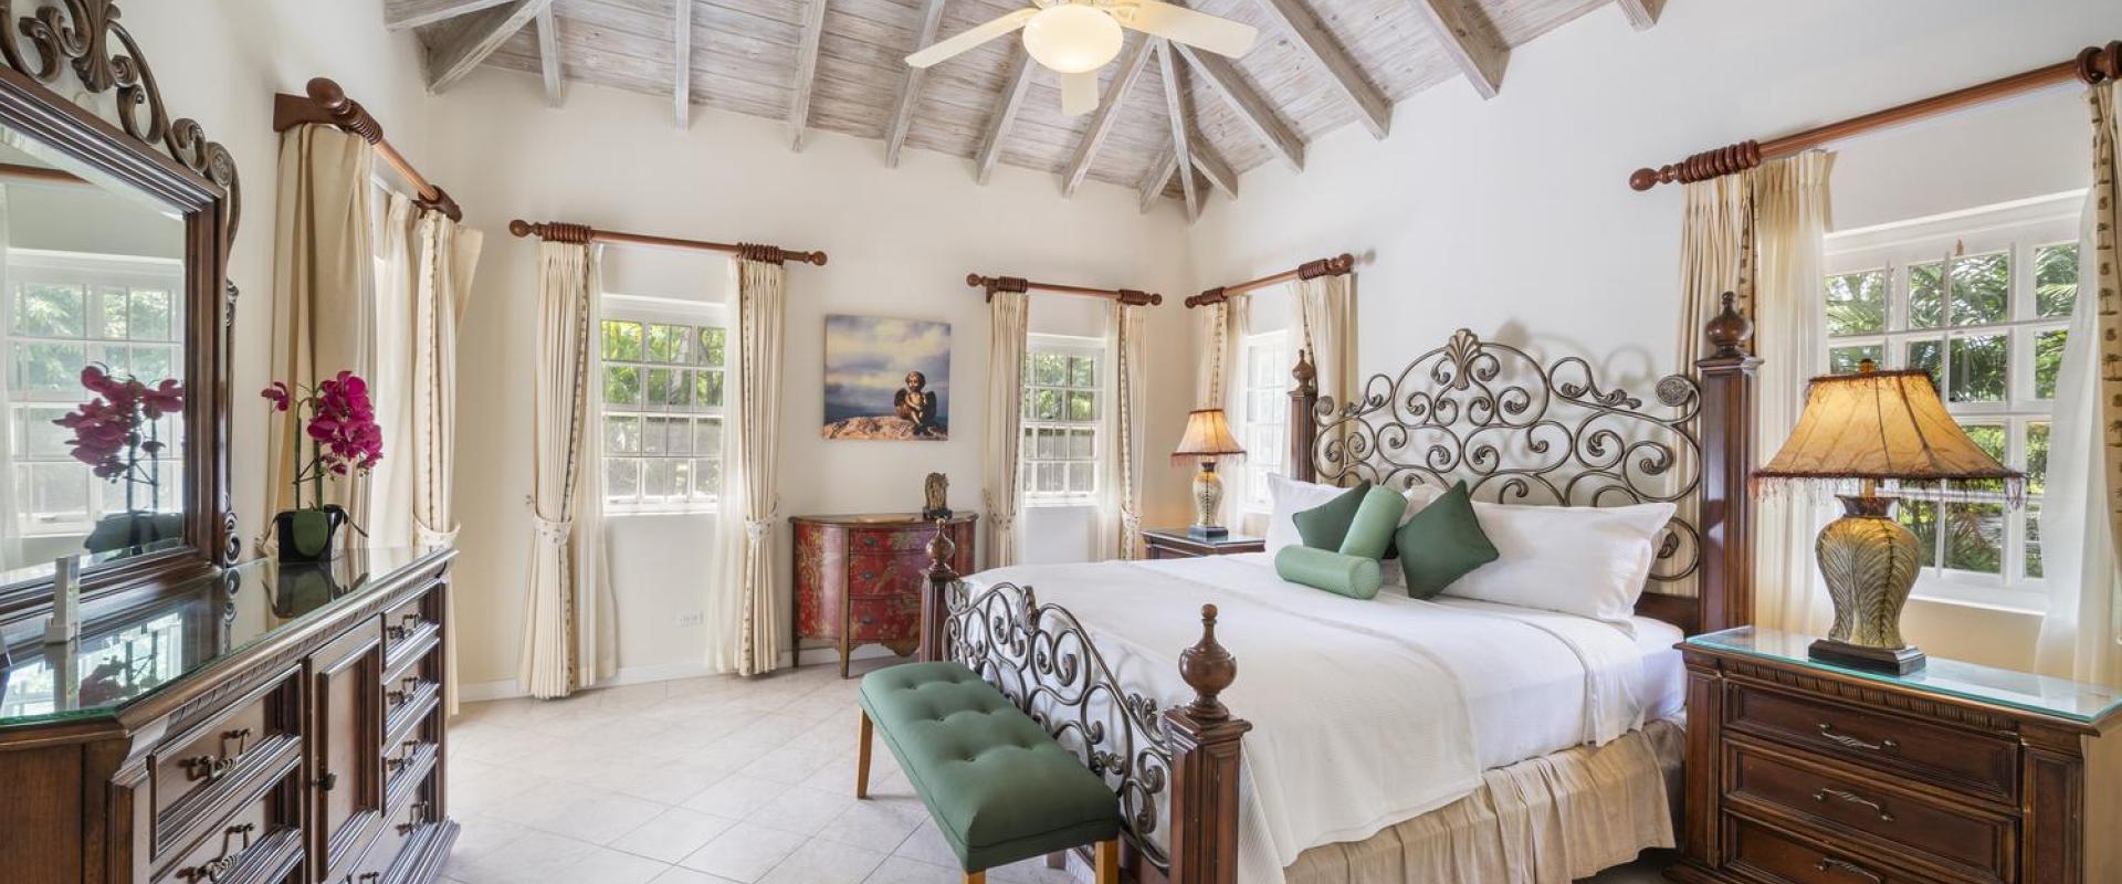
[[[1142, 375], [1144, 307], [1106, 303], [1106, 365], [1112, 371], [1110, 432], [1099, 488], [1099, 560], [1142, 558]], [[1023, 365], [1023, 363], [1019, 363]]]

